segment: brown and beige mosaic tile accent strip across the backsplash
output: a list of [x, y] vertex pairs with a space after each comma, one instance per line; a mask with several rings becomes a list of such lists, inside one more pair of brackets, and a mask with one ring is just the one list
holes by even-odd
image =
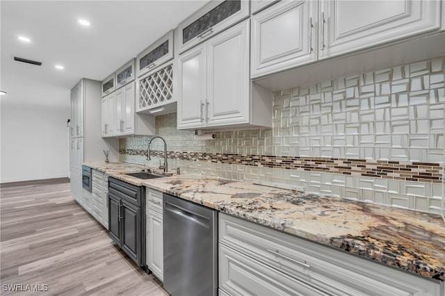
[[[120, 149], [120, 154], [147, 156], [147, 150]], [[163, 157], [163, 151], [152, 151], [152, 156]], [[369, 161], [366, 159], [305, 158], [298, 156], [219, 154], [190, 151], [169, 151], [168, 158], [255, 167], [276, 167], [286, 170], [371, 176], [401, 181], [442, 183], [442, 167], [438, 163], [405, 163], [399, 161]]]

